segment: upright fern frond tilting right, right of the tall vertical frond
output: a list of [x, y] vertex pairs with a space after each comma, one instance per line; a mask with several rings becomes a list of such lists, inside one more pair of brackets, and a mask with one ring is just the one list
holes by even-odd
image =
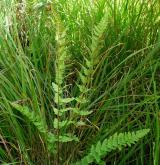
[[89, 101], [88, 92], [92, 89], [94, 69], [100, 61], [99, 54], [102, 48], [102, 43], [104, 42], [103, 35], [107, 27], [107, 18], [108, 14], [105, 11], [101, 21], [93, 28], [89, 56], [84, 58], [85, 64], [81, 65], [82, 68], [79, 72], [81, 83], [77, 85], [80, 91], [80, 96], [77, 98], [77, 102], [80, 104]]

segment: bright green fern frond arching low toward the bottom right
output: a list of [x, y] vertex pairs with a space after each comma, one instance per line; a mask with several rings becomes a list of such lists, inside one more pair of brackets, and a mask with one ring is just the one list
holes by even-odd
[[148, 134], [149, 131], [149, 129], [142, 129], [136, 132], [116, 133], [109, 137], [109, 139], [105, 139], [103, 142], [99, 141], [96, 145], [92, 145], [89, 154], [74, 165], [88, 165], [93, 162], [100, 164], [102, 163], [101, 158], [109, 152], [116, 149], [121, 150], [122, 147], [135, 144], [139, 139]]

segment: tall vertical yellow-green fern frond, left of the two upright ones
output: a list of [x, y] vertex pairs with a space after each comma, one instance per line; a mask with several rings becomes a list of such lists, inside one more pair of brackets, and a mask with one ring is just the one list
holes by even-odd
[[[54, 118], [54, 128], [57, 132], [57, 138], [59, 142], [70, 142], [78, 141], [74, 135], [67, 133], [67, 128], [74, 124], [74, 121], [66, 118], [66, 112], [72, 111], [72, 107], [69, 106], [74, 98], [66, 97], [66, 85], [64, 84], [66, 77], [66, 61], [70, 59], [67, 51], [67, 41], [66, 41], [66, 29], [63, 26], [61, 18], [53, 10], [54, 14], [54, 25], [56, 26], [56, 61], [55, 61], [55, 81], [52, 83], [54, 89], [54, 113], [56, 118]], [[62, 131], [63, 130], [63, 131]], [[64, 131], [65, 130], [65, 131]], [[59, 143], [58, 142], [58, 143]]]

